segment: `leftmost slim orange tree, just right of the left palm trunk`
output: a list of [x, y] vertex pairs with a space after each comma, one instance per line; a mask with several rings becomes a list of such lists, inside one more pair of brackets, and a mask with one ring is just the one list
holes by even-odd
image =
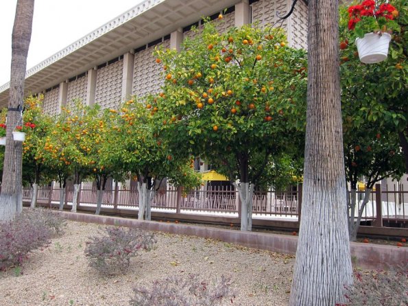
[[38, 184], [51, 180], [50, 169], [44, 158], [44, 152], [50, 154], [56, 148], [45, 146], [46, 139], [53, 126], [53, 119], [43, 113], [43, 96], [27, 97], [24, 102], [23, 125], [16, 129], [25, 132], [23, 143], [23, 180], [32, 187], [31, 207], [36, 207]]

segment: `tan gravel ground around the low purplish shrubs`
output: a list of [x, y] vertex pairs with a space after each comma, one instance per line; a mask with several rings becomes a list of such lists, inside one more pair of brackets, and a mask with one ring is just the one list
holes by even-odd
[[[156, 249], [134, 257], [125, 275], [103, 276], [88, 267], [85, 242], [102, 228], [67, 222], [64, 235], [34, 251], [22, 267], [0, 272], [0, 305], [129, 305], [132, 288], [167, 276], [230, 276], [232, 305], [287, 305], [294, 259], [213, 239], [156, 233]], [[228, 302], [228, 303], [227, 303]], [[227, 301], [224, 305], [231, 305]]]

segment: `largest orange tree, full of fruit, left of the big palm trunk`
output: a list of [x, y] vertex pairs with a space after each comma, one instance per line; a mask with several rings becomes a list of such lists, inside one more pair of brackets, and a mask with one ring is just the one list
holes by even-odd
[[172, 154], [202, 156], [232, 180], [244, 231], [269, 157], [302, 147], [307, 58], [285, 39], [283, 30], [250, 25], [219, 34], [206, 22], [179, 53], [156, 51], [165, 84], [147, 107], [160, 137]]

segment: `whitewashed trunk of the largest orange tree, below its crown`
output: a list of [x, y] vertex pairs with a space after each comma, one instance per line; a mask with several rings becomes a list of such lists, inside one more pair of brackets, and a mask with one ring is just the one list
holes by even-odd
[[252, 231], [252, 203], [254, 195], [254, 184], [234, 183], [241, 199], [241, 231]]

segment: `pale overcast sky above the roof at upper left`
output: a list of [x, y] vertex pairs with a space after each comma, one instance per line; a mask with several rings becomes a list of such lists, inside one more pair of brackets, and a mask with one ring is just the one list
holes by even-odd
[[[142, 0], [35, 0], [27, 70]], [[10, 80], [17, 0], [0, 0], [0, 85]]]

